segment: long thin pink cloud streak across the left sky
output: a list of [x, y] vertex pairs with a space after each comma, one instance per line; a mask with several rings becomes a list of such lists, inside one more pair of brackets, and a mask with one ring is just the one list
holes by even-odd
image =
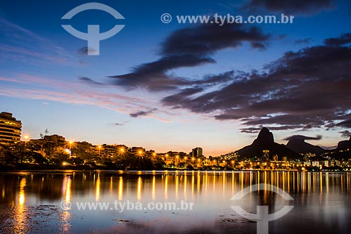
[[[16, 74], [13, 77], [1, 77], [0, 96], [12, 98], [24, 98], [32, 100], [53, 100], [60, 103], [77, 105], [95, 105], [99, 108], [106, 108], [115, 112], [129, 115], [138, 110], [152, 110], [159, 107], [157, 100], [152, 98], [137, 98], [135, 93], [119, 94], [116, 90], [111, 91], [107, 86], [100, 89], [92, 89], [89, 86], [82, 86], [77, 80], [67, 81], [55, 79], [55, 77], [37, 77], [28, 74]], [[22, 85], [26, 84], [24, 88]], [[166, 110], [160, 110], [164, 117], [151, 115], [154, 119], [168, 122]]]

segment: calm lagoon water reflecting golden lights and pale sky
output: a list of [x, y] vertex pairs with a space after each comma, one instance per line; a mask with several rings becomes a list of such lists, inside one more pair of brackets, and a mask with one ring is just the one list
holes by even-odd
[[[256, 184], [263, 184], [263, 190], [253, 191]], [[245, 188], [251, 188], [251, 193], [244, 194]], [[275, 193], [276, 188], [293, 200], [284, 200]], [[242, 197], [231, 200], [233, 195]], [[79, 204], [85, 204], [85, 209]], [[89, 205], [93, 207], [89, 209]], [[350, 233], [351, 174], [0, 173], [0, 233], [256, 233], [256, 221], [234, 212], [234, 205], [251, 213], [264, 205], [270, 214], [286, 205], [293, 206], [288, 214], [269, 222], [269, 233]]]

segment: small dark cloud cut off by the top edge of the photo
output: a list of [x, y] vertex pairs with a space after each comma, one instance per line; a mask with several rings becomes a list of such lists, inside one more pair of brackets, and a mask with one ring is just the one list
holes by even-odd
[[333, 8], [333, 0], [251, 0], [244, 9], [310, 15]]

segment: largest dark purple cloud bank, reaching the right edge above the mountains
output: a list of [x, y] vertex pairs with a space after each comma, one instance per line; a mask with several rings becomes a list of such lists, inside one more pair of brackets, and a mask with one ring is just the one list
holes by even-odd
[[350, 47], [308, 47], [285, 53], [264, 72], [225, 72], [230, 82], [221, 89], [183, 89], [162, 103], [197, 113], [220, 112], [216, 119], [239, 119], [250, 127], [306, 130], [330, 128], [338, 121], [338, 126], [351, 126], [346, 121], [351, 110], [350, 64]]

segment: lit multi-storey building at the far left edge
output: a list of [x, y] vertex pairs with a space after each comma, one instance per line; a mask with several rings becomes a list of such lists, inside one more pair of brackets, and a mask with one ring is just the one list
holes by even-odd
[[16, 143], [20, 141], [22, 123], [12, 113], [0, 114], [0, 143]]

